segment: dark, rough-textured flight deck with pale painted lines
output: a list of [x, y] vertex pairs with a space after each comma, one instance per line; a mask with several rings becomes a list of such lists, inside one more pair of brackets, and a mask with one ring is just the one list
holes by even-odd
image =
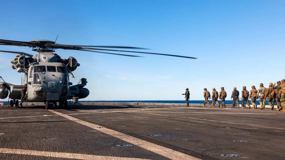
[[285, 113], [270, 108], [44, 107], [0, 108], [0, 159], [284, 159]]

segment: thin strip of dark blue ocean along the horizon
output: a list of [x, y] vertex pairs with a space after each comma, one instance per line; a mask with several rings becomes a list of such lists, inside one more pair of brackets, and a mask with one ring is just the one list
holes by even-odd
[[[4, 101], [0, 101], [4, 102]], [[78, 101], [78, 102], [145, 102], [145, 103], [186, 103], [185, 100], [85, 100], [85, 101]], [[209, 100], [209, 102], [212, 104], [212, 100]], [[221, 100], [218, 100], [218, 102], [221, 104]], [[203, 104], [204, 100], [189, 100], [189, 103], [193, 104]], [[239, 101], [241, 104], [241, 100]], [[250, 103], [250, 100], [249, 100]], [[267, 103], [267, 101], [266, 101]], [[233, 104], [233, 100], [225, 100], [225, 104]], [[244, 103], [246, 104], [246, 103]], [[259, 100], [256, 100], [256, 104], [259, 105]], [[268, 103], [267, 103], [268, 104]], [[7, 101], [4, 102], [4, 105], [7, 105]], [[251, 103], [250, 103], [251, 105]], [[274, 105], [277, 105], [277, 102], [274, 103]]]

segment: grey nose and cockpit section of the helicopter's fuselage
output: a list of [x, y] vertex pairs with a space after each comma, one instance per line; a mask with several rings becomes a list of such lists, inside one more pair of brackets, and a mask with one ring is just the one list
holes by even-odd
[[28, 101], [65, 101], [69, 96], [67, 68], [63, 63], [33, 63], [28, 70], [27, 84]]

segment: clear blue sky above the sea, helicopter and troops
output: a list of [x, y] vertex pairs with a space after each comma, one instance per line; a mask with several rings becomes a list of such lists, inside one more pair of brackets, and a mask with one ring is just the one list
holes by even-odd
[[[2, 1], [0, 39], [54, 41], [59, 34], [58, 44], [196, 57], [55, 52], [80, 63], [71, 82], [87, 78], [84, 100], [183, 100], [186, 87], [191, 100], [203, 100], [203, 88], [225, 87], [230, 95], [233, 87], [285, 79], [284, 7], [285, 1]], [[0, 50], [35, 54], [29, 47]], [[10, 63], [15, 56], [0, 52], [0, 76], [20, 85], [22, 73]]]

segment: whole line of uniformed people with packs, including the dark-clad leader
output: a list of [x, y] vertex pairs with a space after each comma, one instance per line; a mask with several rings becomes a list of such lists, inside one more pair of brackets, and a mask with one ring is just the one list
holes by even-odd
[[[278, 111], [283, 111], [285, 112], [285, 79], [282, 79], [282, 81], [278, 81], [277, 85], [275, 86], [276, 83], [269, 83], [269, 87], [265, 88], [263, 86], [263, 83], [260, 83], [260, 87], [256, 90], [255, 86], [253, 85], [249, 91], [246, 90], [246, 87], [242, 87], [242, 93], [241, 93], [241, 102], [242, 102], [242, 109], [245, 107], [244, 102], [248, 105], [248, 109], [250, 109], [250, 104], [249, 104], [249, 99], [251, 99], [251, 104], [252, 104], [252, 109], [257, 109], [257, 104], [255, 104], [256, 99], [259, 98], [259, 103], [260, 103], [260, 109], [265, 109], [265, 102], [267, 98], [268, 104], [271, 106], [271, 110], [274, 108], [274, 102], [277, 101], [277, 108], [276, 110]], [[212, 88], [212, 105], [215, 107], [215, 103], [220, 107], [226, 108], [225, 104], [225, 98], [227, 97], [227, 92], [225, 91], [224, 87], [221, 87], [221, 91], [218, 93], [215, 88]], [[259, 95], [260, 94], [260, 95]], [[187, 106], [189, 106], [189, 91], [188, 88], [186, 88], [185, 94]], [[188, 95], [188, 97], [187, 97]], [[233, 87], [233, 92], [231, 95], [231, 99], [233, 99], [233, 104], [232, 108], [235, 107], [235, 104], [237, 104], [237, 108], [239, 108], [239, 91], [237, 91], [237, 87]], [[188, 99], [187, 99], [188, 98]], [[204, 98], [205, 102], [202, 105], [205, 107], [205, 104], [208, 103], [209, 107], [211, 107], [211, 104], [209, 102], [209, 99], [211, 99], [211, 94], [209, 91], [207, 91], [207, 88], [204, 88]], [[218, 98], [221, 100], [222, 105], [219, 104]]]

